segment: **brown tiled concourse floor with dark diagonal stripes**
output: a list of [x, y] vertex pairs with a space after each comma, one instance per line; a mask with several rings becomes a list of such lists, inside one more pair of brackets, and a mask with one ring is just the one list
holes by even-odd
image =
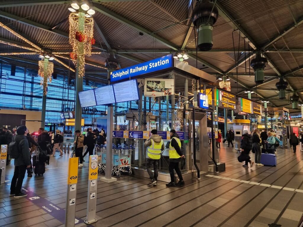
[[[206, 173], [201, 180], [186, 182], [181, 188], [166, 188], [160, 182], [150, 188], [147, 179], [121, 176], [115, 183], [98, 182], [97, 217], [91, 226], [268, 226], [296, 227], [303, 213], [303, 193], [285, 190], [303, 189], [303, 153], [278, 149], [276, 167], [238, 163], [238, 153], [221, 145], [223, 173]], [[64, 215], [68, 154], [51, 158], [43, 177], [27, 178], [23, 188], [44, 198], [14, 199], [8, 196], [9, 184], [0, 186], [0, 226], [63, 226], [62, 217], [47, 209], [57, 207]], [[251, 154], [252, 159], [254, 155]], [[76, 218], [86, 217], [88, 157], [78, 171]], [[11, 179], [13, 166], [8, 167]], [[215, 178], [205, 175], [218, 175]], [[242, 181], [242, 182], [240, 182]], [[254, 183], [262, 183], [258, 185]], [[268, 187], [277, 186], [277, 187]], [[61, 211], [62, 210], [62, 211]], [[58, 212], [57, 212], [58, 213]], [[62, 216], [62, 215], [61, 215]], [[60, 221], [61, 220], [61, 221]], [[83, 221], [76, 226], [86, 226]]]

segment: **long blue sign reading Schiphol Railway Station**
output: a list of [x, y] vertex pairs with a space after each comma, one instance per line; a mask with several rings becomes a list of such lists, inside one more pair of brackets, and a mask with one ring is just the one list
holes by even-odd
[[156, 58], [151, 61], [146, 61], [124, 69], [111, 72], [111, 82], [117, 82], [125, 79], [130, 79], [146, 73], [152, 73], [162, 69], [173, 67], [172, 55], [166, 55], [161, 58]]

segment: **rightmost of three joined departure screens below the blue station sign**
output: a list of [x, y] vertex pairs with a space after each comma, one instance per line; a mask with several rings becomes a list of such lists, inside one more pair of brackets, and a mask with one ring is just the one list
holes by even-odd
[[124, 81], [113, 84], [116, 103], [139, 99], [137, 80]]

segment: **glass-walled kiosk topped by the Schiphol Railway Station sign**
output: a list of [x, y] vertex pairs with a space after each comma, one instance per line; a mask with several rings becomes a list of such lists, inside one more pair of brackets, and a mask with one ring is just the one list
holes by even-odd
[[[144, 65], [148, 67], [153, 63], [166, 62], [167, 57], [173, 63], [168, 64], [168, 67], [161, 65], [160, 70], [153, 72], [136, 71], [145, 67]], [[196, 177], [197, 172], [194, 165], [193, 136], [196, 143], [195, 163], [200, 171], [208, 171], [208, 153], [211, 153], [211, 148], [208, 145], [206, 113], [212, 112], [214, 107], [198, 108], [195, 123], [192, 122], [192, 109], [198, 107], [198, 93], [201, 90], [214, 89], [216, 77], [184, 62], [173, 61], [172, 55], [162, 58], [165, 60], [154, 59], [132, 66], [135, 70], [128, 67], [111, 74], [113, 84], [118, 82], [117, 78], [121, 78], [120, 81], [137, 79], [139, 84], [139, 100], [114, 104], [113, 143], [116, 146], [134, 146], [131, 155], [132, 172], [148, 178], [145, 170], [147, 148], [144, 147], [144, 142], [149, 138], [150, 131], [157, 129], [164, 144], [169, 145], [169, 131], [175, 129], [186, 157], [179, 163], [179, 167], [184, 179], [191, 179]], [[135, 72], [130, 74], [131, 71]], [[210, 99], [213, 100], [214, 97]], [[196, 127], [195, 135], [192, 133], [193, 126]], [[168, 164], [168, 149], [165, 149], [159, 162], [158, 179], [161, 181], [170, 182]]]

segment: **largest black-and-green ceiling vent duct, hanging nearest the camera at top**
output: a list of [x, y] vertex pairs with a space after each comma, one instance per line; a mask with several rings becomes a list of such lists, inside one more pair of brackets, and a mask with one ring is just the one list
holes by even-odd
[[218, 19], [218, 8], [211, 2], [201, 0], [194, 10], [194, 25], [198, 31], [199, 51], [209, 51], [212, 48], [212, 29]]

